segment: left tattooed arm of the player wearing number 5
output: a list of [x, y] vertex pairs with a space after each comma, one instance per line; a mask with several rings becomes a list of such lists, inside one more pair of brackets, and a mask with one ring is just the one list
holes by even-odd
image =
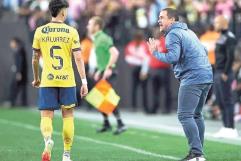
[[33, 50], [33, 56], [32, 56], [32, 70], [33, 70], [33, 82], [32, 85], [34, 87], [39, 87], [40, 85], [40, 79], [39, 79], [39, 58], [40, 58], [41, 52], [40, 50]]

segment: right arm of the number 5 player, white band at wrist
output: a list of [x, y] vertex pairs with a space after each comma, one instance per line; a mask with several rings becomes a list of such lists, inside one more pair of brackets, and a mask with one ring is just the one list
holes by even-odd
[[85, 65], [84, 65], [84, 60], [81, 56], [81, 51], [74, 51], [74, 60], [75, 60], [75, 64], [77, 66], [77, 70], [79, 73], [79, 76], [81, 78], [82, 81], [82, 86], [81, 86], [81, 97], [84, 97], [88, 94], [88, 87], [87, 87], [87, 79], [86, 79], [86, 74], [85, 74]]

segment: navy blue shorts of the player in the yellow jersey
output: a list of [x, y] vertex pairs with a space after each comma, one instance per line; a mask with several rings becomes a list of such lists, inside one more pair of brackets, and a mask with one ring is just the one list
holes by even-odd
[[39, 110], [58, 110], [62, 106], [75, 107], [76, 87], [40, 87]]

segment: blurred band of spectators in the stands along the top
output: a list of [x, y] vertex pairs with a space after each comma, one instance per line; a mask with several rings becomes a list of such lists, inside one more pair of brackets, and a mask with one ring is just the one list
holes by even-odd
[[[213, 23], [216, 15], [223, 14], [240, 37], [239, 0], [69, 0], [69, 4], [68, 23], [79, 28], [80, 35], [86, 32], [89, 17], [99, 15], [105, 18], [106, 30], [118, 43], [128, 42], [136, 29], [151, 35], [159, 11], [166, 7], [178, 9], [182, 21], [199, 35]], [[1, 7], [27, 17], [30, 31], [48, 21], [48, 0], [3, 0]], [[121, 35], [121, 31], [130, 34]]]

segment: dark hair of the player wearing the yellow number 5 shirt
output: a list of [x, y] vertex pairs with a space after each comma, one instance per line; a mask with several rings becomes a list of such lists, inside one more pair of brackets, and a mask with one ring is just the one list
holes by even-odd
[[57, 17], [61, 9], [68, 7], [69, 3], [66, 0], [51, 0], [49, 2], [49, 11], [52, 17]]

